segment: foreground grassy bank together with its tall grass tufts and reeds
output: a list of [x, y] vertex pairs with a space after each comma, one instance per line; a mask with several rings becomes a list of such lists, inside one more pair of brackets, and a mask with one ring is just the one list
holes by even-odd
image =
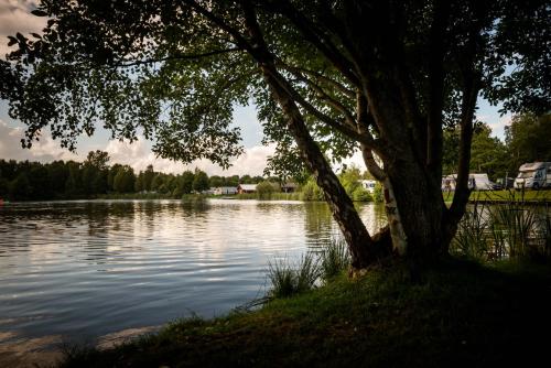
[[[344, 241], [268, 263], [264, 297], [225, 316], [174, 321], [62, 367], [531, 365], [551, 327], [551, 216], [520, 201], [469, 208], [444, 262], [349, 278]], [[396, 262], [396, 261], [395, 261]]]

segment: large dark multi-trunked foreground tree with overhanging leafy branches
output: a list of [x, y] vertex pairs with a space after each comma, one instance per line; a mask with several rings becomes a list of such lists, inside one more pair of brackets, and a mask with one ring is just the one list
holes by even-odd
[[[2, 97], [26, 126], [62, 145], [97, 125], [163, 158], [239, 154], [235, 104], [253, 101], [271, 169], [306, 169], [325, 193], [352, 251], [447, 252], [468, 199], [476, 101], [550, 110], [551, 7], [532, 1], [44, 0], [42, 35], [10, 39]], [[458, 127], [457, 190], [440, 193], [443, 129]], [[390, 229], [367, 231], [329, 161], [361, 150], [383, 183]], [[377, 162], [374, 158], [380, 158]], [[404, 180], [407, 177], [407, 180]], [[381, 248], [382, 247], [382, 248]], [[430, 256], [430, 257], [432, 257]]]

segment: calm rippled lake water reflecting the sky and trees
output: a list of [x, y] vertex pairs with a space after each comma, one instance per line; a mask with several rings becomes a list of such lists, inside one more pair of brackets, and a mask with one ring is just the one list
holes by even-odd
[[[382, 208], [363, 205], [370, 230]], [[0, 207], [0, 344], [83, 340], [266, 292], [267, 261], [338, 228], [323, 203], [235, 199], [13, 203]]]

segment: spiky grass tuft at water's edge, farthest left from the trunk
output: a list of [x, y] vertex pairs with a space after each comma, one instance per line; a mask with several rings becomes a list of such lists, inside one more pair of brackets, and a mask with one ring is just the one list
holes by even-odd
[[291, 264], [287, 259], [268, 262], [271, 297], [288, 297], [312, 290], [318, 278], [318, 261], [312, 253], [302, 256], [296, 264]]

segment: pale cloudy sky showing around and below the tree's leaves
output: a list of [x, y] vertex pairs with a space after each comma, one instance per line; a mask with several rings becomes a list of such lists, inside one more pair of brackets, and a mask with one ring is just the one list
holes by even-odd
[[[0, 57], [3, 57], [10, 51], [8, 35], [13, 35], [17, 32], [23, 34], [41, 33], [45, 25], [45, 19], [30, 14], [30, 10], [34, 9], [34, 4], [35, 1], [33, 0], [0, 0]], [[510, 115], [501, 117], [497, 110], [497, 107], [491, 107], [485, 100], [479, 100], [477, 119], [489, 125], [493, 134], [503, 139], [504, 128], [510, 123], [511, 117]], [[231, 160], [231, 167], [224, 171], [207, 160], [199, 160], [184, 165], [156, 158], [151, 152], [151, 142], [143, 139], [143, 137], [139, 137], [138, 141], [130, 144], [111, 140], [109, 133], [102, 128], [98, 128], [93, 137], [80, 138], [76, 153], [62, 149], [60, 142], [53, 140], [47, 131], [43, 132], [41, 140], [33, 144], [32, 149], [22, 149], [20, 140], [24, 134], [24, 126], [9, 117], [7, 102], [0, 100], [0, 159], [40, 162], [51, 162], [53, 160], [84, 161], [88, 151], [102, 150], [109, 153], [110, 163], [128, 164], [136, 171], [144, 170], [147, 165], [153, 164], [155, 171], [174, 174], [198, 167], [208, 175], [261, 175], [266, 167], [266, 161], [273, 153], [274, 147], [261, 144], [262, 128], [256, 117], [255, 107], [236, 106], [234, 123], [241, 129], [241, 143], [245, 147], [245, 153]], [[364, 167], [359, 152], [347, 163]]]

